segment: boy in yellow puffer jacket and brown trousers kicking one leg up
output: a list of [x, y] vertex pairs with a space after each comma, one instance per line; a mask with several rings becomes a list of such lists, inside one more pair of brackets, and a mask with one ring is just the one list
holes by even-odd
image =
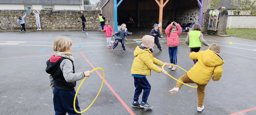
[[[225, 63], [220, 57], [220, 47], [218, 44], [211, 44], [210, 49], [200, 52], [191, 52], [189, 58], [198, 60], [198, 62], [183, 76], [179, 81], [183, 83], [197, 84], [197, 111], [204, 109], [205, 87], [212, 78], [218, 81], [222, 75], [222, 64]], [[212, 77], [213, 75], [213, 77]], [[177, 82], [175, 87], [169, 91], [169, 94], [176, 94], [183, 84]]]

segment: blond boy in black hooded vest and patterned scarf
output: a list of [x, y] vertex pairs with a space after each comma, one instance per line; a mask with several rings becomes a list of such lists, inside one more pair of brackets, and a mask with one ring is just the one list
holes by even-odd
[[[73, 107], [73, 99], [76, 94], [76, 81], [89, 77], [91, 71], [75, 73], [74, 58], [71, 52], [72, 41], [67, 37], [55, 38], [52, 55], [46, 62], [46, 72], [49, 75], [50, 86], [53, 93], [53, 104], [55, 114], [80, 114], [76, 113]], [[76, 108], [80, 111], [78, 99]]]

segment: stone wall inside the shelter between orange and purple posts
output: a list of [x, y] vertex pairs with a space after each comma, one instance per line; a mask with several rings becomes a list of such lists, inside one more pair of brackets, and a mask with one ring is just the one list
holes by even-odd
[[199, 10], [199, 8], [177, 9], [175, 12], [175, 20], [178, 21], [180, 24], [187, 24], [189, 22], [198, 23]]

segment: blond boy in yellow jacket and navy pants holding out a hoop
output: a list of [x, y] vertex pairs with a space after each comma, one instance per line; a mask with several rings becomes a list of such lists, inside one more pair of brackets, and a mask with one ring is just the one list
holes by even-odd
[[[151, 70], [154, 70], [157, 73], [167, 72], [162, 70], [162, 68], [157, 67], [156, 65], [167, 66], [168, 63], [164, 63], [160, 60], [157, 60], [153, 55], [154, 47], [154, 37], [150, 35], [145, 35], [142, 37], [141, 46], [137, 46], [134, 51], [134, 60], [132, 64], [131, 74], [134, 78], [135, 93], [133, 98], [132, 107], [138, 108], [152, 108], [153, 106], [149, 105], [147, 102], [148, 95], [150, 93], [151, 86], [147, 81], [146, 75], [151, 74]], [[156, 65], [155, 65], [156, 64]], [[142, 101], [138, 102], [139, 96], [143, 89]]]

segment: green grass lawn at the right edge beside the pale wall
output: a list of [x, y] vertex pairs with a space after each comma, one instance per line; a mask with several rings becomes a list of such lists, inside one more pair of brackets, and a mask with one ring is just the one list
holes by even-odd
[[226, 34], [233, 37], [256, 40], [256, 29], [227, 29]]

